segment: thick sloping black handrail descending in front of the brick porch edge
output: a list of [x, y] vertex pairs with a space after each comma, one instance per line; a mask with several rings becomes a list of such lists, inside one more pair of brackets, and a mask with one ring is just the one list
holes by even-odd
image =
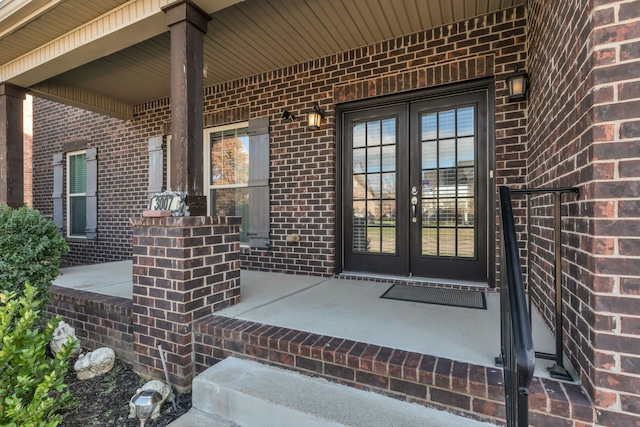
[[507, 426], [525, 427], [535, 351], [508, 187], [500, 187], [500, 220], [500, 331]]

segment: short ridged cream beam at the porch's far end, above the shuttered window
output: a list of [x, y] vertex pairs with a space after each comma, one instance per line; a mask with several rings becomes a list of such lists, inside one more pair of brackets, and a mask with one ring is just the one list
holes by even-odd
[[122, 120], [131, 120], [133, 118], [133, 105], [85, 89], [67, 86], [51, 80], [38, 83], [29, 89], [30, 93], [39, 98], [84, 108], [85, 110]]

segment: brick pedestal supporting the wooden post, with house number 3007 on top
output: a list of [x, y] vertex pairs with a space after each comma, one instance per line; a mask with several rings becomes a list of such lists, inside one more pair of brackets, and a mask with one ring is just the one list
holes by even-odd
[[134, 369], [178, 389], [195, 376], [192, 324], [240, 301], [239, 217], [133, 219]]

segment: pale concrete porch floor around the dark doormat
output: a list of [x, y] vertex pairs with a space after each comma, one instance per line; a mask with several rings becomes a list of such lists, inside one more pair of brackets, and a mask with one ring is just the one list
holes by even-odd
[[[68, 267], [53, 284], [103, 295], [132, 297], [131, 261]], [[487, 309], [381, 299], [388, 283], [241, 270], [242, 302], [216, 314], [351, 339], [380, 346], [494, 366], [500, 351], [499, 294]], [[554, 340], [533, 313], [536, 351], [554, 352]], [[538, 360], [548, 377], [551, 361]]]

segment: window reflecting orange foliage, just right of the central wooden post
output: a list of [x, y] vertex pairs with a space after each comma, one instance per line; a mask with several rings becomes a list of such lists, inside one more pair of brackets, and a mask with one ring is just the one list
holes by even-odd
[[240, 242], [249, 243], [249, 134], [247, 123], [205, 131], [209, 214], [242, 217]]

